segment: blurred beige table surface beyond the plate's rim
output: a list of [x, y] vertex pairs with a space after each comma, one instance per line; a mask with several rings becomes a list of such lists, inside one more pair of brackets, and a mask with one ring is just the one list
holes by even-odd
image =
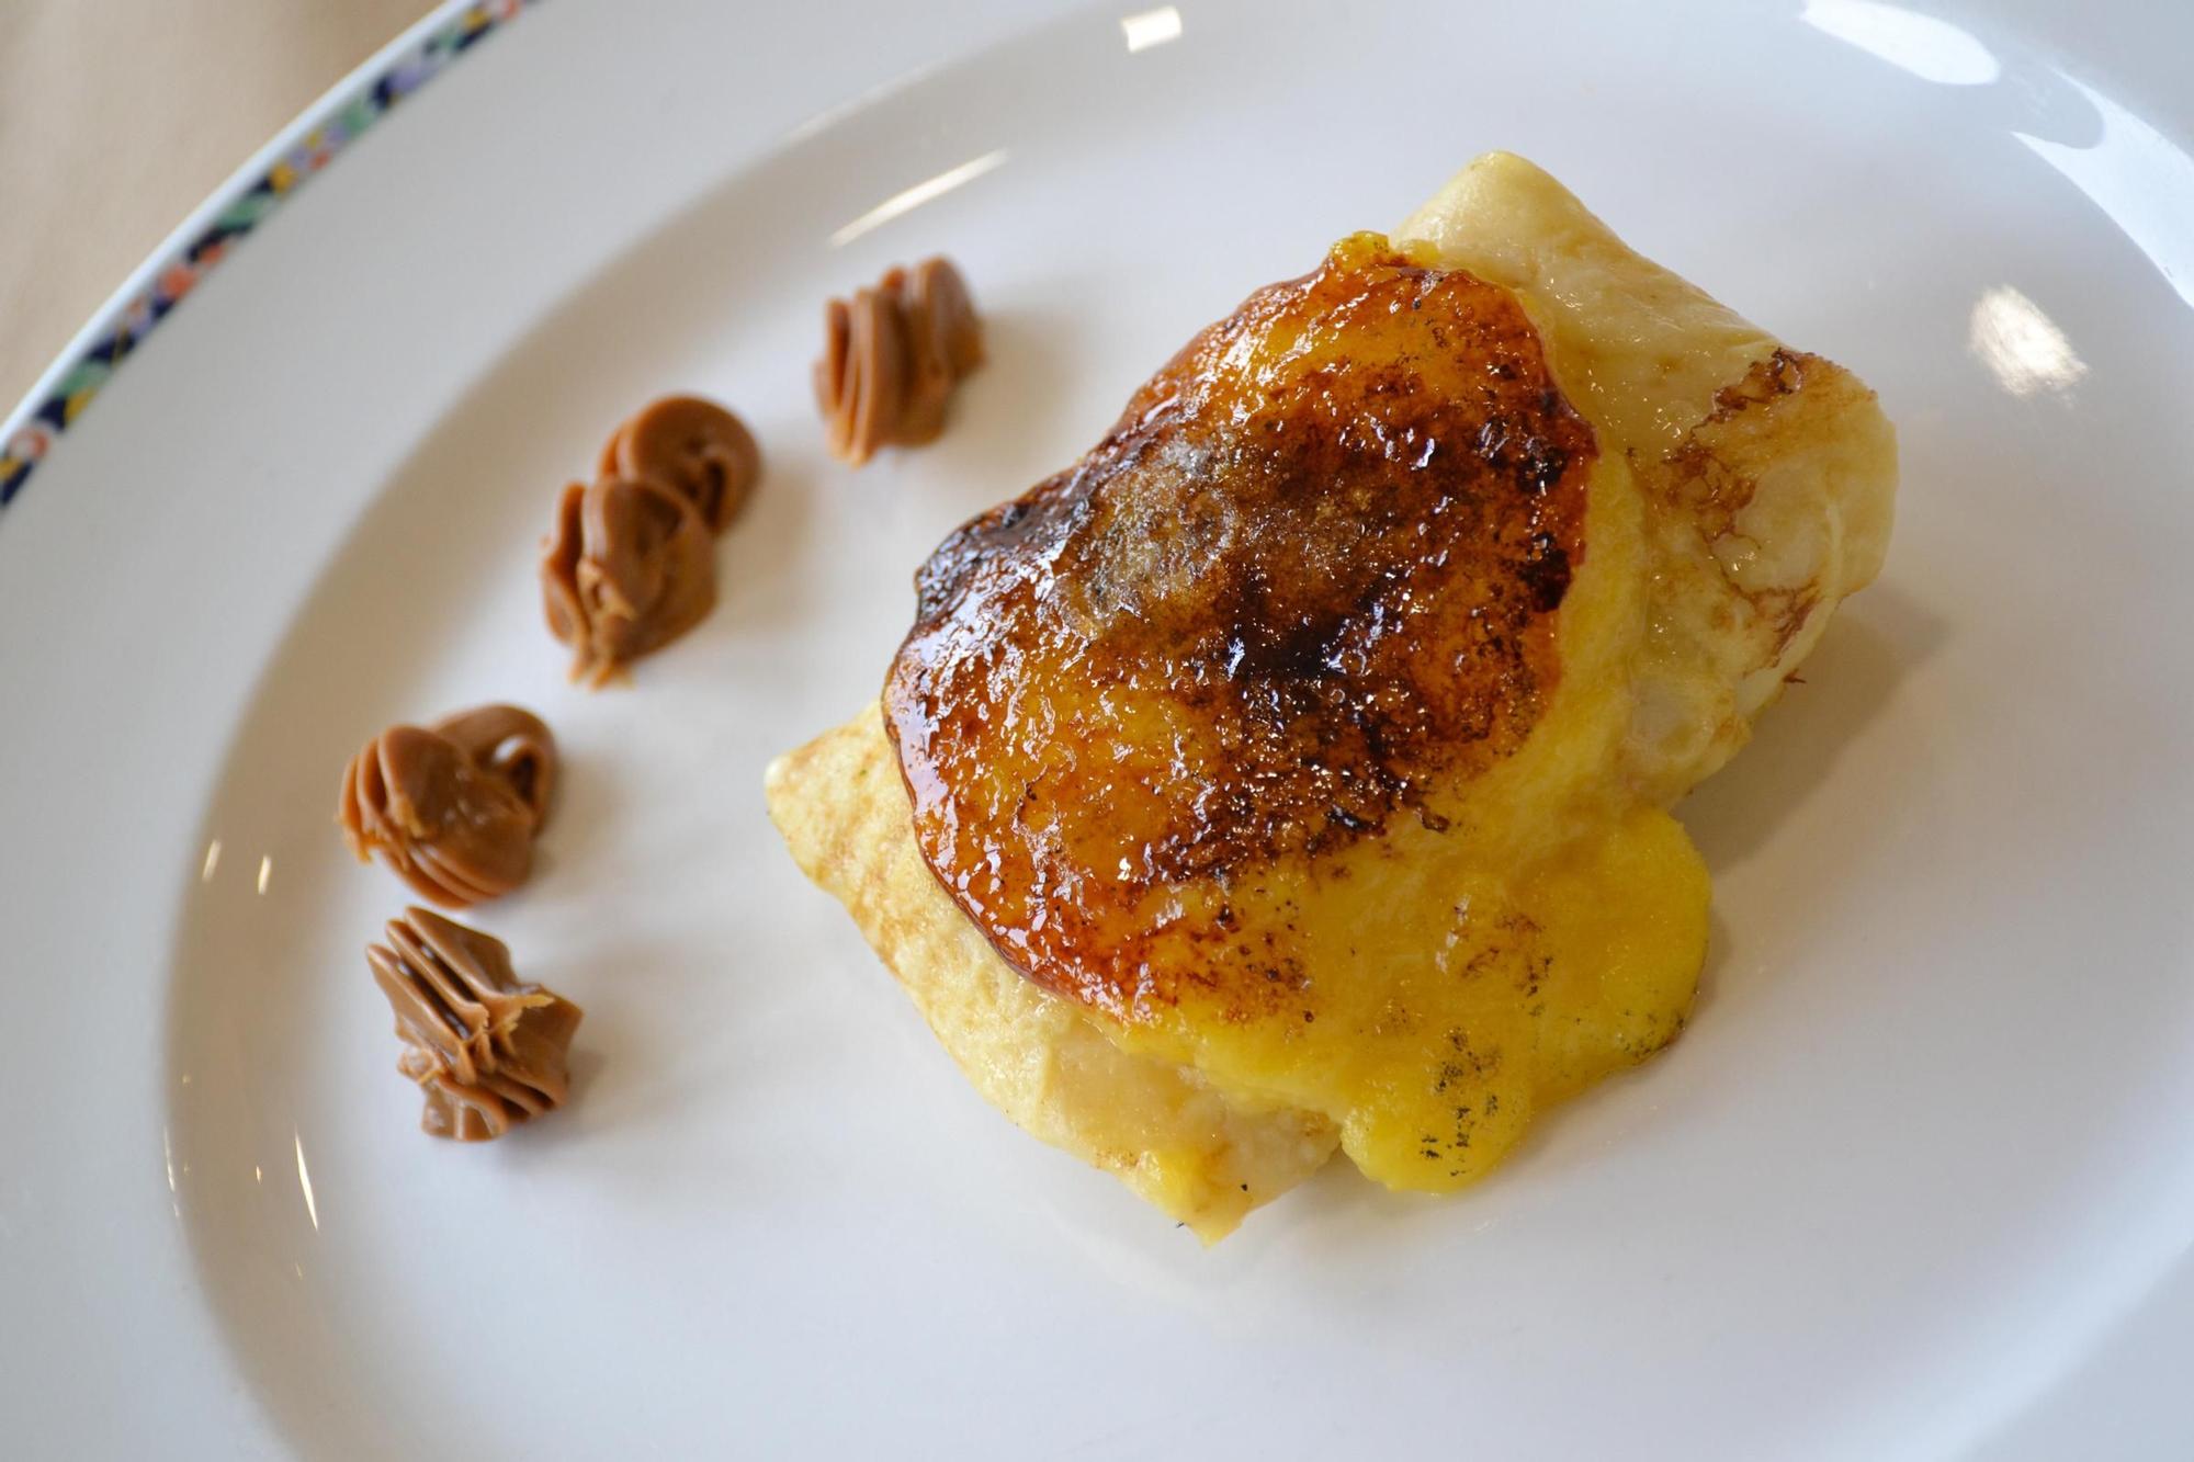
[[0, 415], [237, 165], [432, 0], [0, 0]]

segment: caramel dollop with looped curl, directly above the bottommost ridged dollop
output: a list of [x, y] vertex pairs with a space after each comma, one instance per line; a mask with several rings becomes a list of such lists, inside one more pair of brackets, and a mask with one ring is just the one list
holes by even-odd
[[336, 821], [421, 898], [465, 909], [533, 871], [548, 821], [555, 738], [540, 716], [483, 705], [432, 727], [388, 727], [342, 773]]

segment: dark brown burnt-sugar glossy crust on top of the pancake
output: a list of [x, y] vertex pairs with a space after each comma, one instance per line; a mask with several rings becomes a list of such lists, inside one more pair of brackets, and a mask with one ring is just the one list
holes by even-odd
[[1536, 724], [1593, 457], [1507, 290], [1378, 235], [1259, 290], [917, 575], [926, 861], [1044, 988], [1268, 1014], [1305, 977], [1266, 874], [1444, 832]]

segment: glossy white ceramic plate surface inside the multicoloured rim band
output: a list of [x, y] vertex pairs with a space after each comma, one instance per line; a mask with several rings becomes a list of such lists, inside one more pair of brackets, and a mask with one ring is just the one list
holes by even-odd
[[[0, 514], [7, 1451], [2185, 1455], [2185, 13], [915, 9], [518, 18]], [[875, 689], [950, 525], [1496, 145], [1880, 389], [1889, 573], [1683, 810], [1678, 1047], [1457, 1201], [1336, 1163], [1205, 1251], [965, 1089], [761, 766]], [[930, 250], [994, 362], [849, 474], [818, 305]], [[768, 481], [717, 615], [579, 694], [533, 542], [665, 389]], [[573, 1109], [459, 1148], [329, 810], [485, 698], [568, 795], [478, 922], [588, 1019]]]

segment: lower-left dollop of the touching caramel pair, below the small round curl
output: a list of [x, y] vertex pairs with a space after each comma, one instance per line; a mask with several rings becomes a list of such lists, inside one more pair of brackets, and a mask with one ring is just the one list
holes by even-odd
[[715, 608], [715, 538], [700, 509], [652, 476], [570, 483], [542, 544], [542, 608], [570, 645], [570, 676], [601, 685]]

